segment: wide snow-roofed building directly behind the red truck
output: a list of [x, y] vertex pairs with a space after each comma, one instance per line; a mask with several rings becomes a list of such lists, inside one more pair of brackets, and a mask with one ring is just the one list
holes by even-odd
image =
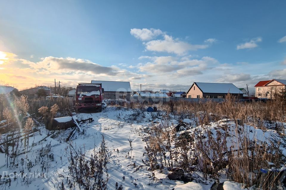
[[91, 80], [91, 83], [101, 83], [102, 88], [104, 88], [105, 99], [130, 100], [131, 95], [133, 95], [130, 82], [127, 81]]

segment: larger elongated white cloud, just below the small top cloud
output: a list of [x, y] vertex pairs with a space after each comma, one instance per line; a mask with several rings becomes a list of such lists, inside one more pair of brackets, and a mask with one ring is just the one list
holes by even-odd
[[192, 45], [187, 42], [180, 41], [179, 39], [173, 39], [172, 36], [164, 35], [164, 39], [152, 40], [144, 43], [146, 50], [175, 53], [183, 55], [189, 50], [205, 49], [208, 45]]

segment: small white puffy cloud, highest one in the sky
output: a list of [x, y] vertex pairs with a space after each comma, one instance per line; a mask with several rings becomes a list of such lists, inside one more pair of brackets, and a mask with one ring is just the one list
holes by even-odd
[[131, 29], [130, 34], [142, 41], [149, 41], [159, 35], [163, 35], [164, 32], [160, 29]]

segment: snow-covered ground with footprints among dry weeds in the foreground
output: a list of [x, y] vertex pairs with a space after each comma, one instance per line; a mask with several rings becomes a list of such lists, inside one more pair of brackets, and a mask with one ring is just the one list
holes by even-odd
[[[99, 148], [102, 135], [108, 146], [110, 157], [108, 163], [109, 181], [108, 189], [115, 189], [116, 182], [122, 184], [123, 189], [210, 189], [214, 181], [207, 183], [197, 183], [196, 181], [184, 183], [183, 181], [169, 180], [168, 171], [150, 171], [143, 160], [147, 159], [144, 155], [147, 136], [146, 129], [154, 122], [162, 122], [160, 113], [138, 113], [136, 109], [126, 109], [124, 107], [107, 107], [101, 113], [80, 113], [77, 118], [93, 118], [93, 122], [81, 125], [83, 132], [77, 132], [69, 141], [77, 149], [81, 148], [91, 155], [94, 149]], [[184, 122], [192, 122], [185, 119]], [[222, 124], [225, 121], [221, 121]], [[178, 120], [171, 120], [173, 125], [178, 124]], [[216, 127], [220, 124], [212, 125], [212, 132], [216, 134]], [[226, 124], [226, 123], [223, 123]], [[262, 140], [276, 136], [275, 132], [263, 132], [260, 129], [249, 127], [256, 136], [261, 136]], [[47, 137], [49, 131], [43, 126], [39, 127], [41, 133], [29, 138], [29, 148], [27, 153], [23, 153], [15, 160], [12, 167], [8, 164], [7, 157], [0, 153], [0, 188], [3, 189], [60, 189], [63, 182], [65, 189], [69, 189], [67, 181], [71, 179], [69, 175], [69, 149], [65, 142], [73, 128], [56, 131]], [[193, 129], [194, 130], [194, 129]], [[179, 132], [180, 133], [180, 132]], [[46, 138], [45, 138], [46, 137]], [[45, 139], [44, 139], [45, 138]], [[44, 140], [43, 140], [44, 139]], [[132, 151], [130, 150], [130, 140], [132, 141]], [[23, 142], [22, 142], [22, 146]], [[22, 148], [24, 149], [24, 148]], [[22, 150], [21, 149], [21, 150]], [[23, 151], [23, 150], [22, 150]], [[285, 149], [282, 150], [284, 155]], [[10, 161], [10, 159], [8, 159]], [[25, 176], [21, 177], [21, 175]], [[9, 175], [9, 177], [5, 175]], [[17, 176], [19, 175], [19, 176]], [[198, 172], [197, 175], [200, 175]], [[226, 181], [225, 179], [221, 179]], [[7, 183], [4, 183], [6, 181]], [[240, 189], [238, 183], [224, 183], [225, 189]]]

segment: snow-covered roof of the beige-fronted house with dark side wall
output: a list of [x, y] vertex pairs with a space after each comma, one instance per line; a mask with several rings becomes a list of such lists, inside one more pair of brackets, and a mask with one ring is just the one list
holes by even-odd
[[240, 91], [240, 89], [238, 89], [232, 83], [194, 83], [194, 84], [196, 84], [203, 93], [244, 94], [242, 91]]

